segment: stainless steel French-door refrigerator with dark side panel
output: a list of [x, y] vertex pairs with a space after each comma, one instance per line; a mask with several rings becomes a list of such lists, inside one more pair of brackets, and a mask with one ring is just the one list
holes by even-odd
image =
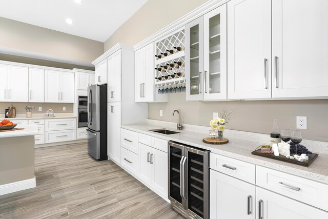
[[107, 85], [88, 87], [88, 152], [96, 160], [107, 159]]

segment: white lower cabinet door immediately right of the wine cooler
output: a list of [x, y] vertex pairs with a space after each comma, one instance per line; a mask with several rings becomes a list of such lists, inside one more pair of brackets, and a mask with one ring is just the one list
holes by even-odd
[[210, 218], [256, 217], [255, 186], [210, 170]]

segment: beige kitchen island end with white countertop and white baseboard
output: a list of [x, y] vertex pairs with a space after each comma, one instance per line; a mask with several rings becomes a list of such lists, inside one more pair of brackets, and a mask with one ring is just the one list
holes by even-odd
[[34, 188], [34, 135], [37, 126], [0, 132], [0, 195]]

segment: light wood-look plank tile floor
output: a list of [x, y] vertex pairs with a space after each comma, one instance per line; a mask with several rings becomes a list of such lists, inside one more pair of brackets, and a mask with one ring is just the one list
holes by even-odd
[[0, 218], [182, 218], [86, 144], [35, 149], [36, 188], [0, 196]]

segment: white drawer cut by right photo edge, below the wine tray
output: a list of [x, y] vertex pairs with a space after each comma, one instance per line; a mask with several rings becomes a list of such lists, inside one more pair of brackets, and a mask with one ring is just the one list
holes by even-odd
[[328, 211], [328, 185], [261, 166], [256, 185]]

